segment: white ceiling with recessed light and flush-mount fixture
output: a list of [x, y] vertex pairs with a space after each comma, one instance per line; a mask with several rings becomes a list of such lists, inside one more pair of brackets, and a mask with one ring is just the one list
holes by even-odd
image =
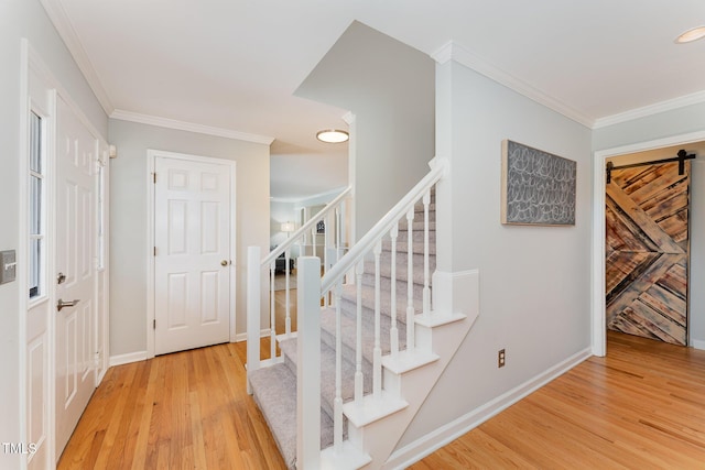
[[[314, 134], [345, 128], [346, 110], [293, 92], [354, 20], [430, 55], [453, 41], [480, 68], [586, 125], [705, 100], [705, 40], [673, 42], [705, 24], [703, 0], [41, 1], [109, 114], [275, 139], [278, 197], [345, 185], [347, 147]], [[293, 183], [300, 170], [316, 179], [321, 166], [337, 175], [329, 187]]]

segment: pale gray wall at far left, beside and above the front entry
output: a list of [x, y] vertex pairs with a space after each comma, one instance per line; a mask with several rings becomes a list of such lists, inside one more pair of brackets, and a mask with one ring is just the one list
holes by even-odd
[[[107, 135], [108, 119], [37, 0], [0, 2], [0, 250], [19, 247], [19, 159], [21, 120], [21, 40], [33, 50], [95, 128]], [[23, 177], [24, 175], [22, 175]], [[20, 253], [18, 253], [20, 255]], [[25, 273], [25, 266], [19, 266]], [[0, 286], [0, 442], [20, 442], [19, 393], [21, 296], [19, 283]], [[20, 456], [0, 450], [0, 468], [20, 468]]]

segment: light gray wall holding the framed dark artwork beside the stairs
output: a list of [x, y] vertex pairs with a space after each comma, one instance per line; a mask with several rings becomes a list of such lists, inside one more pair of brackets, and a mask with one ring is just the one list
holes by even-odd
[[[590, 346], [590, 130], [453, 61], [436, 87], [437, 266], [479, 270], [480, 313], [398, 448]], [[574, 227], [500, 223], [503, 139], [577, 162]]]

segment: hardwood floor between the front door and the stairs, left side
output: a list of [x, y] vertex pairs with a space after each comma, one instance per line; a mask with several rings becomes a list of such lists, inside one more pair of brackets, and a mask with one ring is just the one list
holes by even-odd
[[285, 469], [246, 393], [245, 345], [111, 368], [58, 469]]

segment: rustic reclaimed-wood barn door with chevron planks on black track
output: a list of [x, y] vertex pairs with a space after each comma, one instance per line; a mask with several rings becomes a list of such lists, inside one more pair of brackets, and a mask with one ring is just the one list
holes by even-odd
[[611, 171], [607, 184], [607, 328], [687, 343], [690, 162]]

